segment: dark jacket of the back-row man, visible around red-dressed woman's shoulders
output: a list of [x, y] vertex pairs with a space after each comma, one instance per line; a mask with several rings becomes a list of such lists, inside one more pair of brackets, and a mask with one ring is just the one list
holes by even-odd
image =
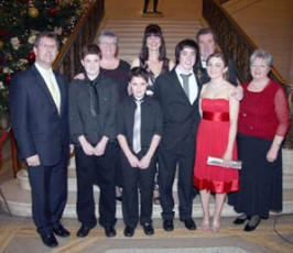
[[[206, 84], [210, 80], [209, 76], [207, 75], [206, 68], [203, 67], [200, 57], [198, 57], [195, 66], [194, 72], [196, 73], [197, 78], [200, 80], [202, 84]], [[236, 74], [236, 66], [232, 59], [228, 61], [228, 81], [232, 85], [237, 86], [237, 74]]]

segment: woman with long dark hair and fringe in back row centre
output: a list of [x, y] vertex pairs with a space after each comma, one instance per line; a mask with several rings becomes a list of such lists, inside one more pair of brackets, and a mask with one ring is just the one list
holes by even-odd
[[[143, 33], [140, 56], [132, 61], [131, 67], [143, 67], [149, 74], [148, 96], [153, 95], [154, 81], [163, 73], [174, 67], [173, 61], [166, 57], [165, 40], [158, 24], [149, 24]], [[155, 175], [154, 204], [160, 204], [158, 173]]]

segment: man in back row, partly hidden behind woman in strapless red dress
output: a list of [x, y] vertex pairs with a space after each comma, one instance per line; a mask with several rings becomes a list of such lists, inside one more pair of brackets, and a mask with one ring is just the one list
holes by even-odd
[[[202, 84], [209, 81], [206, 70], [206, 61], [217, 50], [217, 35], [213, 29], [200, 29], [196, 34], [196, 41], [199, 46], [199, 57], [195, 64], [195, 73]], [[237, 86], [236, 66], [232, 59], [228, 59], [228, 81]]]

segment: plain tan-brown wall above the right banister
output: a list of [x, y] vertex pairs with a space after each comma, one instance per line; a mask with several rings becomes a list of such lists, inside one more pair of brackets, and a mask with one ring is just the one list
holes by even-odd
[[292, 0], [230, 0], [223, 7], [258, 47], [273, 55], [274, 67], [292, 84]]

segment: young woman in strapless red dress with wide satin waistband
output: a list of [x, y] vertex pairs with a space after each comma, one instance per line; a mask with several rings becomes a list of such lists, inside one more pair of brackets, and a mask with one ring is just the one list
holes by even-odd
[[[220, 228], [220, 213], [227, 193], [238, 190], [238, 170], [229, 168], [229, 162], [237, 160], [236, 133], [239, 101], [231, 95], [235, 86], [224, 78], [227, 62], [221, 53], [207, 59], [210, 81], [200, 92], [202, 121], [197, 130], [194, 186], [199, 190], [203, 206], [202, 229], [209, 230], [209, 196], [215, 193], [215, 211], [211, 231]], [[207, 157], [220, 157], [223, 167], [207, 165]]]

